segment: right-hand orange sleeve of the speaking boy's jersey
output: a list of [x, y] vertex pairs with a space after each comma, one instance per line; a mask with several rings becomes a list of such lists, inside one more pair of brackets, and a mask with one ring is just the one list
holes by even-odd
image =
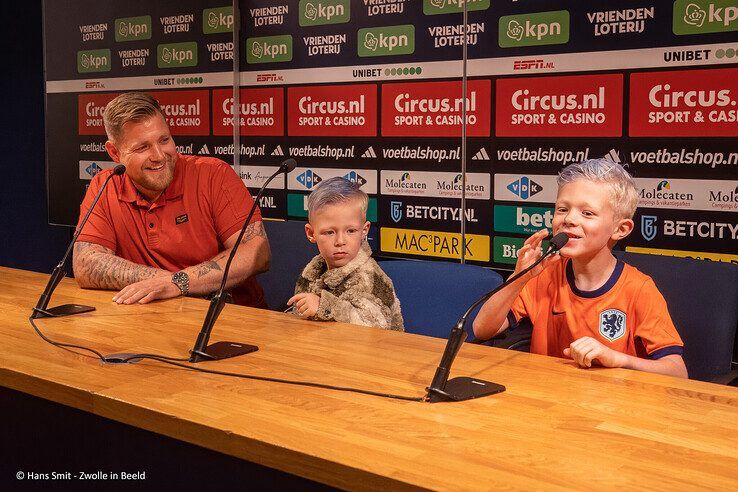
[[641, 340], [649, 359], [682, 355], [684, 343], [674, 326], [664, 296], [648, 278], [636, 296], [634, 337]]

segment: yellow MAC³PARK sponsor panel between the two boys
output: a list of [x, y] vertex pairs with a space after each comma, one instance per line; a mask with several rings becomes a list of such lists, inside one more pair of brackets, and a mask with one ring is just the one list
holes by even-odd
[[[461, 234], [382, 227], [380, 249], [386, 253], [461, 258]], [[489, 236], [466, 235], [467, 260], [489, 261]]]

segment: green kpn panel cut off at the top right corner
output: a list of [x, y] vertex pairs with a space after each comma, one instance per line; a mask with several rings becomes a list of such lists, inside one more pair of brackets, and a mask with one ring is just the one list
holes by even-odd
[[738, 31], [738, 1], [676, 0], [672, 30], [680, 36]]

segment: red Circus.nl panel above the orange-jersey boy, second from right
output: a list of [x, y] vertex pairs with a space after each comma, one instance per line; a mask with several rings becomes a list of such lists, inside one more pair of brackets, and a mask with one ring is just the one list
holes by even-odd
[[497, 80], [498, 137], [620, 137], [623, 75]]

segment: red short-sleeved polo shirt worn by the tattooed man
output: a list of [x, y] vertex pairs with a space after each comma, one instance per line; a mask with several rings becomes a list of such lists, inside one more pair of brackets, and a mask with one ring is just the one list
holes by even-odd
[[[111, 172], [93, 178], [80, 220]], [[224, 241], [241, 230], [253, 203], [231, 166], [212, 157], [180, 154], [172, 182], [154, 203], [146, 201], [125, 174], [111, 179], [79, 241], [100, 244], [134, 263], [176, 272], [222, 251]], [[260, 220], [257, 207], [251, 222]], [[238, 304], [264, 305], [264, 294], [253, 278], [235, 288], [233, 297]]]

